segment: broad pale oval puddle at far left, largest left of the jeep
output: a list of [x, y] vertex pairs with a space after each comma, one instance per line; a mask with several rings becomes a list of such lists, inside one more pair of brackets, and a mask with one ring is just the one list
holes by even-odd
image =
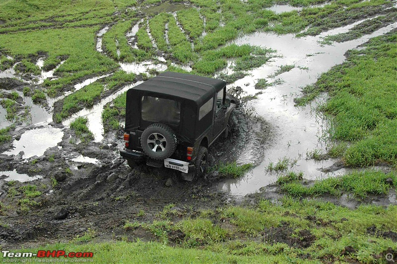
[[4, 152], [4, 154], [17, 155], [20, 151], [23, 151], [23, 159], [42, 156], [47, 149], [61, 142], [63, 136], [64, 132], [62, 129], [53, 128], [48, 125], [42, 128], [28, 130], [21, 134], [19, 140], [15, 139], [13, 142], [14, 148]]

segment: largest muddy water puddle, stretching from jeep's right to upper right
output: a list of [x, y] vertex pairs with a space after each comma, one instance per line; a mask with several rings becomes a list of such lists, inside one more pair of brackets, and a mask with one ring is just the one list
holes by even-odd
[[[349, 26], [348, 26], [349, 27]], [[328, 71], [332, 66], [341, 64], [345, 57], [343, 54], [368, 41], [370, 38], [385, 34], [395, 28], [395, 25], [384, 27], [370, 35], [360, 39], [344, 43], [335, 43], [332, 46], [321, 46], [318, 37], [295, 38], [292, 34], [273, 35], [257, 32], [237, 39], [234, 43], [238, 45], [251, 44], [277, 50], [280, 58], [272, 58], [265, 66], [250, 71], [250, 76], [237, 80], [230, 86], [240, 86], [245, 91], [244, 95], [254, 95], [261, 90], [255, 89], [255, 83], [260, 78], [272, 82], [277, 78], [284, 83], [267, 87], [263, 94], [258, 95], [257, 100], [250, 101], [248, 108], [252, 108], [256, 115], [263, 117], [271, 124], [273, 138], [270, 143], [262, 146], [265, 152], [264, 161], [240, 180], [226, 180], [219, 184], [218, 189], [233, 195], [246, 195], [258, 191], [261, 187], [274, 183], [277, 173], [269, 173], [267, 167], [270, 163], [276, 164], [279, 159], [286, 157], [294, 162], [288, 170], [302, 171], [306, 179], [322, 179], [337, 176], [347, 172], [340, 169], [332, 173], [322, 173], [320, 168], [329, 167], [334, 160], [314, 161], [306, 159], [306, 153], [313, 149], [325, 149], [320, 140], [323, 131], [327, 129], [327, 122], [317, 116], [313, 109], [324, 101], [319, 98], [306, 107], [294, 107], [293, 99], [300, 94], [300, 89], [308, 84], [316, 82], [321, 73]], [[332, 30], [332, 34], [346, 30]], [[325, 32], [322, 35], [329, 34]], [[283, 72], [278, 76], [271, 76], [279, 66], [294, 65], [290, 71]], [[326, 96], [326, 95], [324, 95]], [[257, 146], [249, 143], [237, 160], [244, 164], [253, 160], [252, 149]], [[295, 161], [296, 160], [296, 161]]]

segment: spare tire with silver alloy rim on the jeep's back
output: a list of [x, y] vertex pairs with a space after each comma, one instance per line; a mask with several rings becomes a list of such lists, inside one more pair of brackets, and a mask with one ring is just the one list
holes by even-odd
[[150, 158], [162, 160], [175, 152], [177, 138], [170, 127], [163, 124], [152, 124], [142, 132], [140, 144]]

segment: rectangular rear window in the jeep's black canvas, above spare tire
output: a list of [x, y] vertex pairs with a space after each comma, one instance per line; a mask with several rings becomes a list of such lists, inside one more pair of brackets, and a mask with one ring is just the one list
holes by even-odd
[[142, 96], [141, 116], [145, 121], [179, 125], [181, 103], [170, 99]]

